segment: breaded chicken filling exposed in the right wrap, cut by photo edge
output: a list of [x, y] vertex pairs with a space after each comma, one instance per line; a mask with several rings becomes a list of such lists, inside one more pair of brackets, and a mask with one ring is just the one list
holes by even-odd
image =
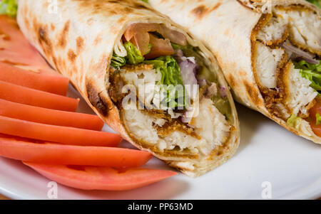
[[252, 33], [253, 70], [266, 107], [290, 127], [321, 137], [321, 18], [276, 6]]

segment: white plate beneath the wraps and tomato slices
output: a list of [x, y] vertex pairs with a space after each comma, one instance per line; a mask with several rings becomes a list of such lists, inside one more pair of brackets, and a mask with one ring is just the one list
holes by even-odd
[[[78, 97], [69, 88], [68, 96]], [[321, 145], [313, 144], [237, 105], [240, 148], [230, 161], [199, 178], [183, 174], [133, 191], [80, 191], [58, 185], [58, 199], [312, 199], [321, 197]], [[81, 100], [79, 111], [92, 113]], [[105, 130], [110, 130], [107, 126]], [[124, 146], [130, 146], [124, 142]], [[168, 168], [152, 159], [148, 166]], [[20, 161], [0, 158], [0, 193], [49, 199], [49, 180]]]

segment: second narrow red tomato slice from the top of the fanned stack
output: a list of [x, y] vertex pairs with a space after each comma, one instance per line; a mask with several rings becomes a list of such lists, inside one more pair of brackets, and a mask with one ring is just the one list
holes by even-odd
[[79, 100], [0, 80], [0, 99], [48, 109], [75, 112]]

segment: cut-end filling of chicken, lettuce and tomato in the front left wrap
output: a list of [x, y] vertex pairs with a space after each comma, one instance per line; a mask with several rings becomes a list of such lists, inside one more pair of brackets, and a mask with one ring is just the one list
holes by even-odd
[[133, 23], [116, 43], [108, 94], [128, 134], [156, 152], [210, 154], [230, 137], [227, 88], [185, 35]]

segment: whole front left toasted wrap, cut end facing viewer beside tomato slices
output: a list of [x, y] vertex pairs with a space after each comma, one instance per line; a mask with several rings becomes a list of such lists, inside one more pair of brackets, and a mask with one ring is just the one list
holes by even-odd
[[143, 1], [21, 0], [17, 20], [103, 121], [139, 149], [200, 176], [238, 148], [238, 117], [217, 61]]

